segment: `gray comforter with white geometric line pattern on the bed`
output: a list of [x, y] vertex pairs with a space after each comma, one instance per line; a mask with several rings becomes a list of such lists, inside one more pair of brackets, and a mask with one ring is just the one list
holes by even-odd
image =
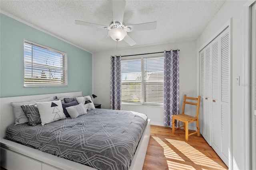
[[10, 125], [6, 139], [100, 170], [127, 170], [148, 117], [93, 109], [44, 126]]

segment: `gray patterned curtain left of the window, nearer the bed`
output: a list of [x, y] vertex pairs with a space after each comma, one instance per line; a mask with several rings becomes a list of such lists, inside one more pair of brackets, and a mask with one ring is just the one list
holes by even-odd
[[110, 66], [110, 109], [121, 110], [121, 57], [111, 56]]

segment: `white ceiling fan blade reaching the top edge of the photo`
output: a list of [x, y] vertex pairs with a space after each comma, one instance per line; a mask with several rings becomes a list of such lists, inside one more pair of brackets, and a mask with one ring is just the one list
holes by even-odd
[[124, 19], [125, 0], [112, 0], [112, 5], [114, 23], [119, 22], [122, 24]]

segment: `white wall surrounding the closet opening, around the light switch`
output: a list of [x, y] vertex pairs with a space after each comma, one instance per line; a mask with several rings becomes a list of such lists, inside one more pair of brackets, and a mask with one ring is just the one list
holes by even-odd
[[231, 116], [233, 168], [244, 169], [244, 124], [242, 112], [242, 86], [235, 86], [235, 77], [242, 77], [243, 6], [247, 1], [226, 1], [197, 39], [197, 50], [231, 19]]

